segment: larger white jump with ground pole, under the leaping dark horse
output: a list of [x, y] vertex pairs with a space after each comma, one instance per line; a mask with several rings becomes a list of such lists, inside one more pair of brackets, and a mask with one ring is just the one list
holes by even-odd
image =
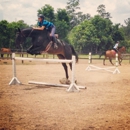
[[15, 53], [12, 54], [12, 66], [13, 66], [13, 78], [10, 81], [9, 85], [16, 85], [21, 84], [16, 76], [16, 64], [15, 60], [28, 60], [28, 61], [43, 61], [43, 62], [53, 62], [53, 63], [72, 63], [72, 73], [71, 73], [71, 84], [70, 85], [63, 85], [63, 84], [52, 84], [52, 83], [45, 83], [45, 82], [36, 82], [36, 81], [29, 81], [29, 84], [40, 84], [40, 85], [48, 85], [54, 87], [67, 87], [67, 91], [79, 91], [80, 88], [86, 88], [84, 86], [78, 86], [75, 84], [75, 56], [72, 56], [72, 60], [60, 60], [60, 59], [38, 59], [38, 58], [23, 58], [23, 57], [15, 57]]

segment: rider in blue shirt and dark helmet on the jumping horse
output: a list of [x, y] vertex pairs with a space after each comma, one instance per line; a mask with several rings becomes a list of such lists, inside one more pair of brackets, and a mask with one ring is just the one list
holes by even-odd
[[57, 46], [57, 42], [56, 42], [56, 38], [55, 38], [55, 25], [47, 20], [44, 19], [44, 16], [42, 14], [38, 15], [38, 28], [33, 27], [33, 29], [37, 29], [37, 30], [44, 30], [45, 28], [51, 32], [50, 36], [51, 36], [51, 40], [54, 43], [54, 48], [58, 48]]

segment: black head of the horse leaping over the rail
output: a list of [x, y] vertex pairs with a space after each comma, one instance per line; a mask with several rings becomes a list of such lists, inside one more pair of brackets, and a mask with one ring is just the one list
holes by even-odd
[[20, 28], [18, 28], [18, 32], [16, 33], [15, 45], [16, 48], [20, 49], [24, 41], [26, 40], [26, 36]]

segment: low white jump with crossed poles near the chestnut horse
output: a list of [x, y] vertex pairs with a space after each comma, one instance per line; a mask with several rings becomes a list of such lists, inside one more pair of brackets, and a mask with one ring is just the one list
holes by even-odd
[[[105, 71], [108, 71], [108, 72], [111, 72], [113, 74], [116, 74], [116, 73], [120, 73], [119, 69], [118, 69], [118, 54], [116, 54], [116, 64], [114, 67], [98, 67], [98, 66], [95, 66], [95, 65], [92, 65], [91, 64], [91, 60], [92, 60], [92, 55], [91, 55], [91, 52], [89, 53], [89, 65], [88, 67], [86, 68], [87, 71], [91, 71], [91, 70], [105, 70]], [[114, 69], [114, 70], [112, 70]]]

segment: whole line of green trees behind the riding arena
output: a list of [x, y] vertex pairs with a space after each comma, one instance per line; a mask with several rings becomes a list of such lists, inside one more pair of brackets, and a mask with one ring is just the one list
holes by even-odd
[[[124, 20], [125, 26], [120, 23], [113, 24], [112, 16], [106, 11], [105, 5], [99, 5], [97, 15], [93, 17], [90, 13], [81, 12], [80, 0], [68, 0], [66, 8], [59, 8], [56, 13], [51, 5], [46, 4], [36, 13], [43, 14], [46, 20], [53, 22], [59, 38], [72, 44], [80, 53], [89, 51], [98, 53], [112, 49], [117, 41], [120, 41], [121, 46], [126, 46], [128, 52], [130, 51], [130, 18]], [[17, 28], [30, 26], [24, 20], [11, 23], [6, 20], [0, 21], [0, 48], [14, 49]], [[28, 38], [24, 49], [29, 46]]]

